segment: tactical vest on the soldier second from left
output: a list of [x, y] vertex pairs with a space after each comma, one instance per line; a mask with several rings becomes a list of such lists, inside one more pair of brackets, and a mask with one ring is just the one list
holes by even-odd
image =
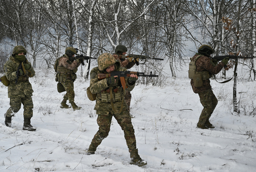
[[[64, 54], [64, 56], [67, 57], [66, 54]], [[65, 82], [66, 80], [75, 81], [76, 78], [77, 78], [76, 74], [75, 74], [75, 72], [77, 71], [76, 69], [75, 70], [69, 70], [68, 68], [65, 68], [63, 66], [59, 66], [59, 60], [60, 60], [60, 58], [63, 58], [64, 56], [61, 56], [61, 57], [56, 59], [56, 62], [55, 62], [55, 65], [54, 65], [55, 72], [57, 72], [55, 80], [57, 82], [61, 82], [61, 83]]]

